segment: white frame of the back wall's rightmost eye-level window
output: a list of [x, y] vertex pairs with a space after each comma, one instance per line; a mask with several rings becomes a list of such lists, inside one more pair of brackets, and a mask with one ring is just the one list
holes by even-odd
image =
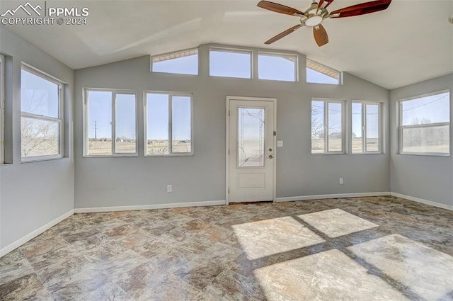
[[[351, 118], [350, 118], [350, 123], [352, 125], [352, 104], [354, 103], [361, 103], [362, 104], [362, 152], [352, 152], [352, 127], [351, 127], [351, 139], [350, 139], [350, 142], [351, 142], [351, 145], [350, 145], [350, 149], [351, 149], [351, 154], [382, 154], [383, 153], [383, 147], [382, 147], [382, 106], [383, 104], [382, 103], [377, 103], [377, 102], [370, 102], [370, 101], [352, 101], [351, 103], [351, 109], [350, 109], [350, 112], [351, 112]], [[374, 152], [368, 152], [367, 151], [367, 105], [374, 105], [374, 106], [378, 106], [378, 110], [377, 110], [377, 117], [378, 117], [378, 132], [377, 132], [377, 142], [379, 144], [379, 148], [377, 151], [374, 151]]]

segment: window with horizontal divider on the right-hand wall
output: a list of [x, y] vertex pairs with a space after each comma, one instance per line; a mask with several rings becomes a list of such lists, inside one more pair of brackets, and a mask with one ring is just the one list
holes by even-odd
[[401, 154], [449, 154], [450, 93], [399, 101]]

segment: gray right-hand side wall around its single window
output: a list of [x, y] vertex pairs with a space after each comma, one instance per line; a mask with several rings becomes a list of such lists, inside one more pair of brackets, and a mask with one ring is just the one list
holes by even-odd
[[[398, 154], [397, 101], [446, 89], [450, 90], [451, 115], [453, 110], [453, 74], [394, 89], [390, 92], [391, 192], [453, 205], [452, 157]], [[452, 137], [451, 127], [450, 137]], [[451, 145], [452, 139], [450, 138], [450, 152], [452, 152]]]

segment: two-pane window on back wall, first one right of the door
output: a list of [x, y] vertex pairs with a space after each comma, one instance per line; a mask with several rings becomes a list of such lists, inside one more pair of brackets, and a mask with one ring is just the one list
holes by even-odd
[[341, 154], [343, 101], [311, 101], [311, 154]]

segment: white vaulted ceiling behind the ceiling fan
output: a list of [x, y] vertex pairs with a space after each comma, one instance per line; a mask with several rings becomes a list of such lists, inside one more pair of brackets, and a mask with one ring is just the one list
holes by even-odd
[[[21, 2], [2, 1], [1, 11]], [[310, 0], [275, 2], [301, 11], [311, 4]], [[329, 10], [361, 2], [336, 0]], [[73, 69], [215, 42], [294, 50], [386, 89], [453, 72], [453, 25], [448, 22], [453, 0], [393, 0], [386, 11], [328, 19], [323, 25], [329, 43], [323, 47], [314, 42], [311, 28], [264, 45], [299, 19], [265, 11], [257, 3], [47, 1], [48, 7], [89, 8], [88, 25], [4, 26]]]

